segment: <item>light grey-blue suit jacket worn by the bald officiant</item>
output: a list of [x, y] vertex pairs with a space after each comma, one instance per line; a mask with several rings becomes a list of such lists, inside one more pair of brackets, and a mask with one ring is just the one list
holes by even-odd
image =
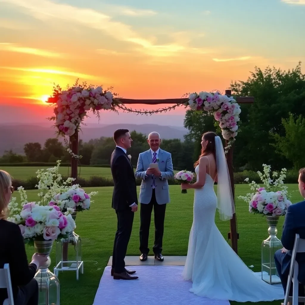
[[159, 170], [162, 173], [162, 178], [155, 177], [154, 175], [146, 175], [145, 171], [152, 163], [151, 150], [141, 152], [138, 158], [137, 169], [135, 177], [142, 179], [140, 187], [139, 202], [148, 204], [152, 198], [152, 182], [155, 180], [156, 201], [158, 204], [165, 204], [170, 202], [169, 186], [167, 179], [174, 177], [173, 162], [171, 154], [165, 150], [160, 149], [158, 154]]

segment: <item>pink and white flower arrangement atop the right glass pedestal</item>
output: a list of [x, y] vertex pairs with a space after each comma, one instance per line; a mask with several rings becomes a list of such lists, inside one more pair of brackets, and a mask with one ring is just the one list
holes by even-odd
[[[260, 187], [255, 181], [252, 181], [249, 186], [255, 192], [248, 193], [246, 196], [239, 196], [238, 198], [249, 203], [250, 213], [267, 216], [285, 215], [287, 208], [292, 204], [289, 201], [288, 188], [284, 185], [287, 170], [283, 168], [279, 175], [277, 172], [273, 172], [273, 178], [270, 178], [271, 166], [266, 164], [263, 164], [263, 166], [264, 174], [260, 171], [257, 173], [265, 186]], [[249, 182], [249, 178], [246, 178], [245, 181]]]

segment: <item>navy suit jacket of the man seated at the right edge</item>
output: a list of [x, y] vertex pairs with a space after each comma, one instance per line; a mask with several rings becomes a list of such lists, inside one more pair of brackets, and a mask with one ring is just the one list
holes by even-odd
[[[305, 239], [305, 201], [292, 204], [287, 209], [283, 225], [282, 244], [284, 248], [290, 250], [285, 253], [282, 260], [282, 274], [288, 274], [292, 249], [296, 234]], [[296, 261], [299, 264], [299, 281], [305, 284], [305, 253], [296, 253]]]

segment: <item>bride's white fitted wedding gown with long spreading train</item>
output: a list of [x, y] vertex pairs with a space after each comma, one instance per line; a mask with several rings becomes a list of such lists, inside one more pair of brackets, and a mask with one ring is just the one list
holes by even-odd
[[[197, 177], [198, 170], [197, 166]], [[282, 287], [257, 277], [216, 227], [217, 197], [213, 185], [213, 179], [206, 174], [203, 188], [195, 189], [193, 224], [183, 270], [183, 278], [193, 282], [190, 291], [210, 299], [237, 302], [284, 299]]]

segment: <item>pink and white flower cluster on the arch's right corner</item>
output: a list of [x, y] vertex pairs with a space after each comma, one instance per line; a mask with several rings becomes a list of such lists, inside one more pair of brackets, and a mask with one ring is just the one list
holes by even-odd
[[188, 96], [188, 106], [193, 110], [204, 110], [213, 114], [215, 120], [219, 122], [223, 138], [228, 141], [224, 149], [227, 153], [238, 132], [237, 123], [239, 122], [241, 109], [236, 100], [218, 92], [201, 91]]

